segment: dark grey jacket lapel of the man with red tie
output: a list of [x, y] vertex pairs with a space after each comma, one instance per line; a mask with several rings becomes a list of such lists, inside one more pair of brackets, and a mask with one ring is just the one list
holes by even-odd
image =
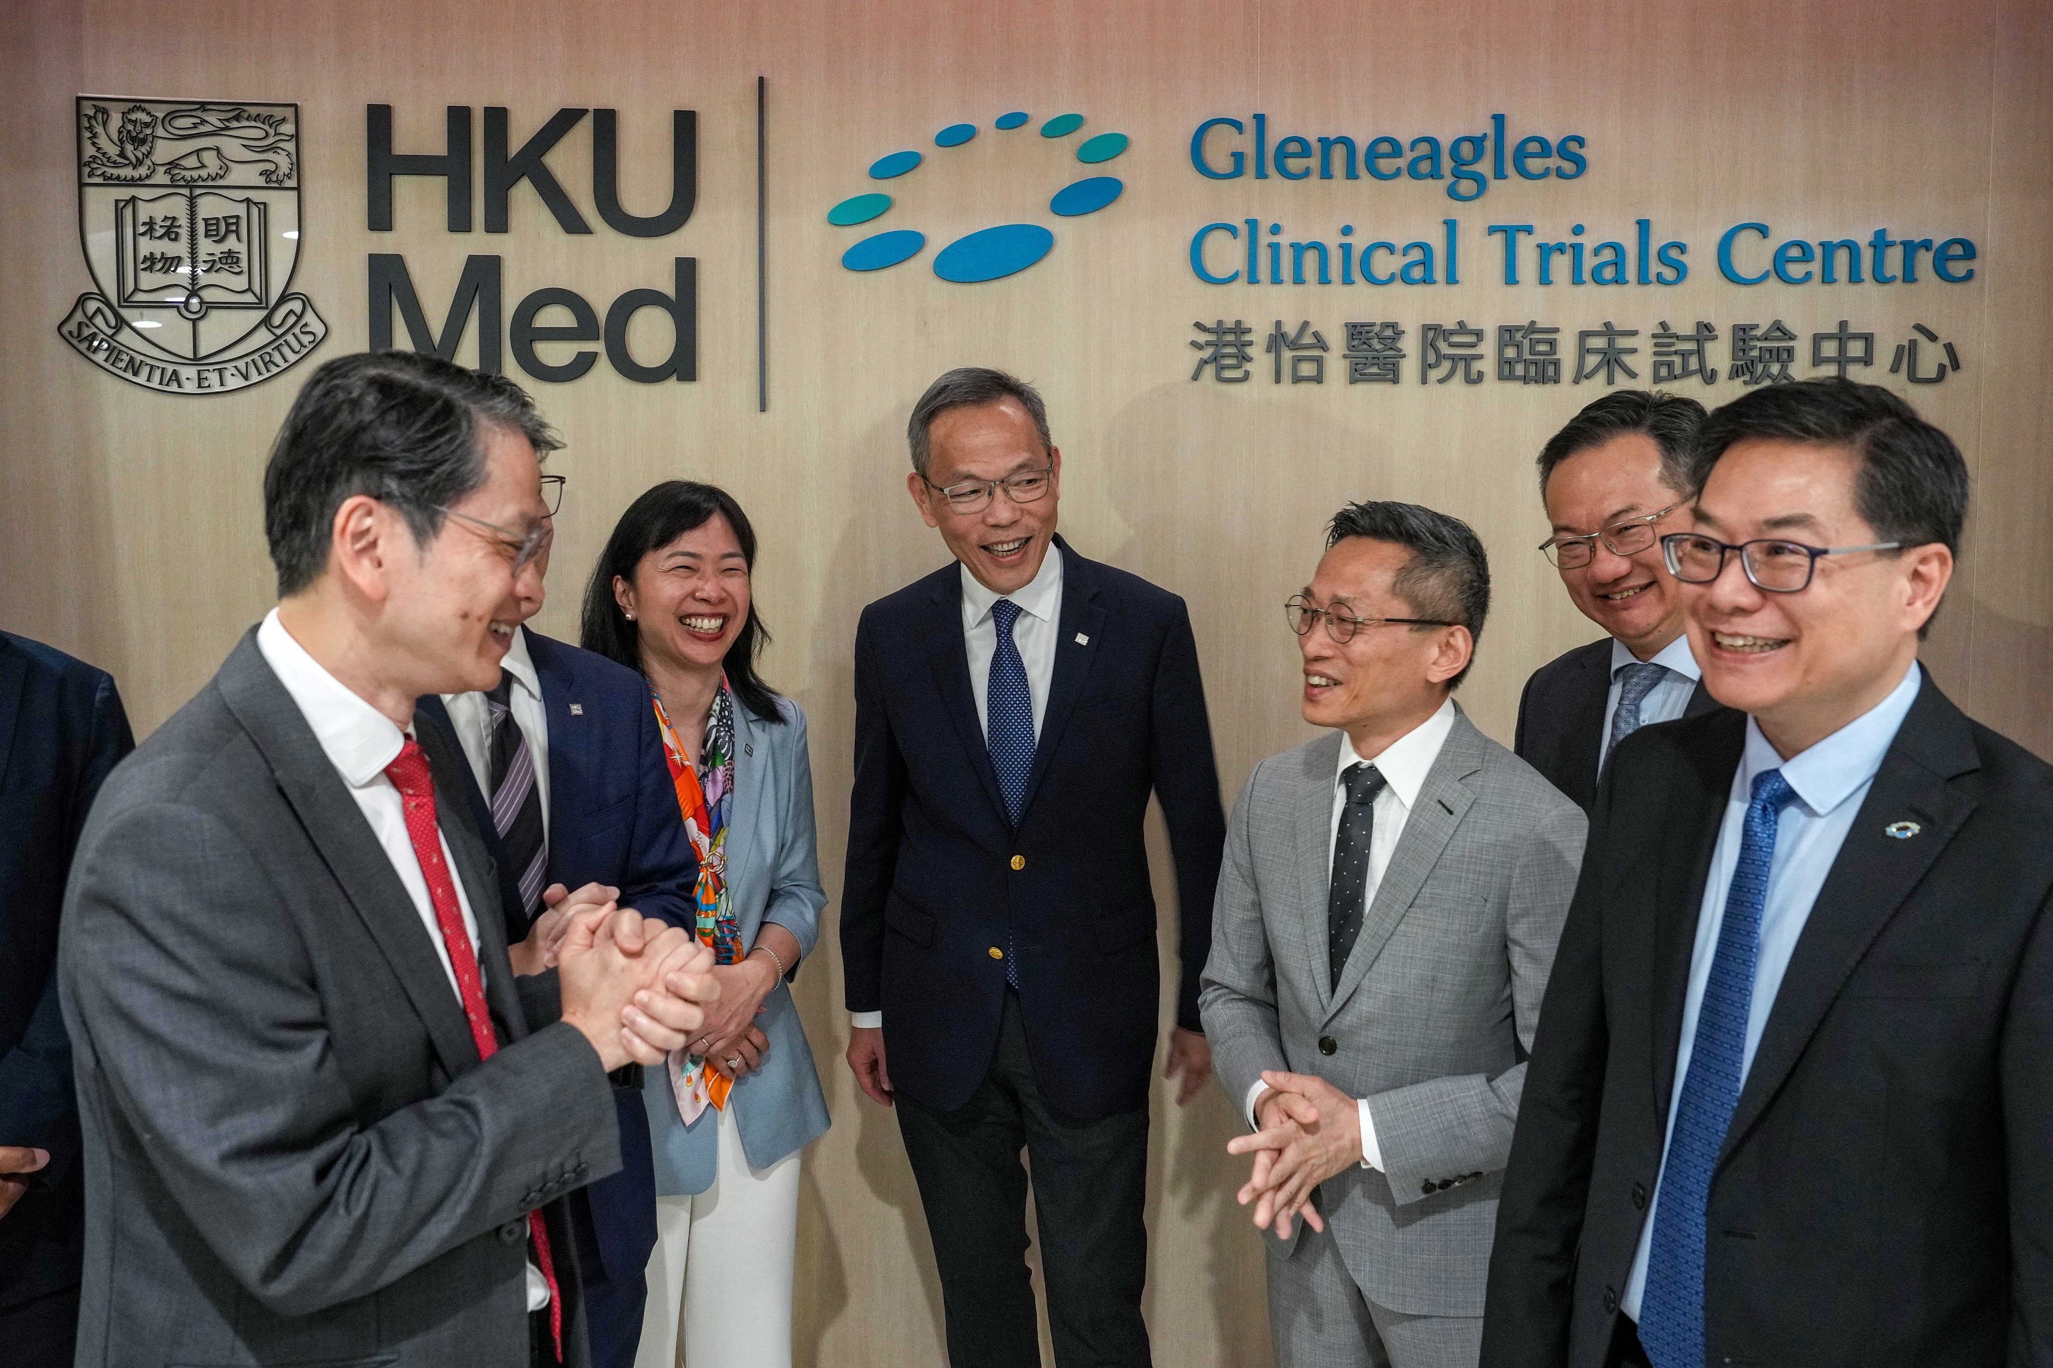
[[269, 661], [257, 649], [255, 629], [244, 633], [228, 655], [216, 686], [228, 711], [263, 752], [306, 838], [363, 918], [365, 930], [427, 1027], [443, 1072], [454, 1078], [476, 1068], [478, 1048], [470, 1039], [464, 1009], [450, 992], [450, 980], [441, 972], [413, 898], [406, 896], [406, 885], [400, 883], [390, 857], [363, 820], [363, 809], [349, 797], [341, 774], [314, 739], [300, 707], [271, 674]]

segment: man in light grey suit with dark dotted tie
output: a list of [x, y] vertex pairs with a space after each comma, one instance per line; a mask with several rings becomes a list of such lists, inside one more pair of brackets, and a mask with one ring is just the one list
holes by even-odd
[[[1476, 1364], [1497, 1189], [1583, 811], [1451, 694], [1490, 604], [1476, 534], [1353, 503], [1289, 622], [1304, 717], [1234, 807], [1199, 1006], [1256, 1134], [1283, 1368]], [[1300, 1228], [1293, 1228], [1293, 1222]]]

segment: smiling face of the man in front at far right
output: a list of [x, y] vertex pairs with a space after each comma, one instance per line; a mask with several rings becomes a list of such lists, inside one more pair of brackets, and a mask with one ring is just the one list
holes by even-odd
[[[1776, 538], [1866, 546], [1876, 536], [1854, 503], [1858, 458], [1844, 448], [1739, 442], [1718, 458], [1694, 509], [1694, 530], [1722, 542]], [[1686, 583], [1683, 616], [1704, 686], [1753, 713], [1788, 758], [1876, 702], [1918, 655], [1918, 629], [1952, 577], [1952, 553], [1932, 542], [1899, 553], [1819, 557], [1798, 594], [1757, 590], [1729, 555], [1710, 583]]]

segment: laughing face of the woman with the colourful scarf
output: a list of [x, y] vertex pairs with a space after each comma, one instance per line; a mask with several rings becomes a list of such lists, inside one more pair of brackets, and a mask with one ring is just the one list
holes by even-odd
[[714, 514], [647, 553], [634, 581], [614, 577], [614, 602], [641, 629], [651, 666], [719, 670], [749, 620], [749, 563], [727, 518]]

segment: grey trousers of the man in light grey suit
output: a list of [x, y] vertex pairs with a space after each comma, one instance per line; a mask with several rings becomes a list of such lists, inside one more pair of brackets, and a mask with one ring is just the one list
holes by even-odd
[[1361, 1294], [1332, 1234], [1306, 1230], [1269, 1255], [1269, 1339], [1277, 1368], [1476, 1368], [1482, 1317], [1415, 1317]]

